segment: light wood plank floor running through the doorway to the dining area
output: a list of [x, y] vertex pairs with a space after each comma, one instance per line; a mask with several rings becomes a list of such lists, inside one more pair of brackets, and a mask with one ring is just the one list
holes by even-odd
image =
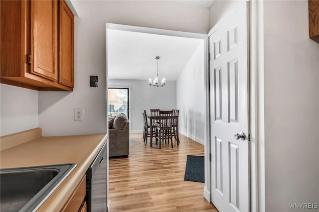
[[142, 134], [130, 135], [128, 158], [111, 158], [111, 212], [217, 212], [203, 197], [204, 183], [184, 181], [187, 155], [204, 155], [204, 146], [180, 135], [174, 148], [161, 149]]

